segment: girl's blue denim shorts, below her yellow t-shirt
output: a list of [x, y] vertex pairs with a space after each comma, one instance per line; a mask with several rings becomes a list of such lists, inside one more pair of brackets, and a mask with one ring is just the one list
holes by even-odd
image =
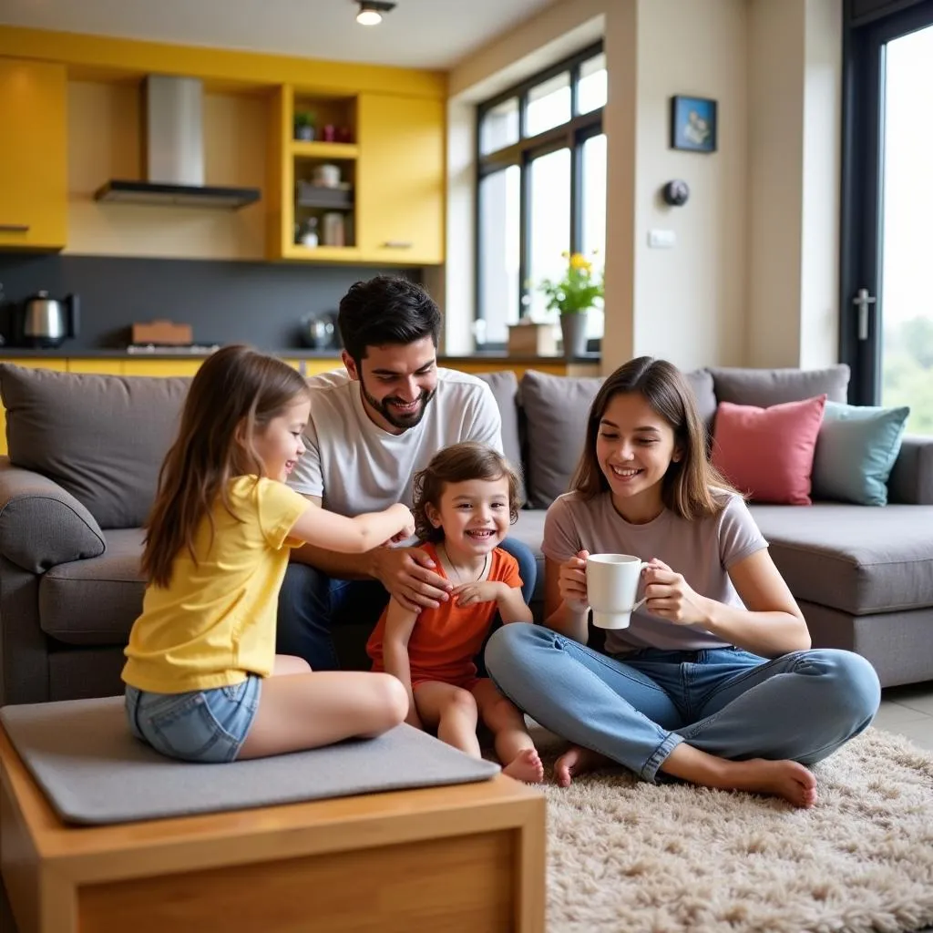
[[130, 731], [157, 752], [183, 761], [236, 759], [259, 705], [262, 678], [189, 693], [126, 689]]

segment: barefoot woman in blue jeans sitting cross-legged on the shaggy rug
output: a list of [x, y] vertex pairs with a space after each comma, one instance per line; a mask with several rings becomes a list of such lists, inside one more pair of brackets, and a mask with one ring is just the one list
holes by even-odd
[[[645, 780], [775, 794], [808, 807], [804, 767], [865, 729], [880, 701], [868, 661], [809, 650], [801, 610], [745, 507], [710, 466], [689, 384], [642, 356], [595, 397], [573, 492], [545, 522], [546, 627], [486, 648], [496, 685], [576, 746], [564, 787], [606, 758]], [[645, 605], [586, 648], [586, 562], [634, 554]], [[771, 659], [771, 660], [766, 660]]]

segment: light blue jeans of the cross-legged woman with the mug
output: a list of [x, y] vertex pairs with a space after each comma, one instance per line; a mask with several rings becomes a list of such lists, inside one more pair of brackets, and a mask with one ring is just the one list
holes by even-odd
[[878, 675], [851, 651], [766, 661], [742, 648], [644, 648], [618, 661], [540, 625], [489, 640], [496, 686], [546, 729], [646, 781], [681, 742], [719, 758], [813, 764], [866, 729]]

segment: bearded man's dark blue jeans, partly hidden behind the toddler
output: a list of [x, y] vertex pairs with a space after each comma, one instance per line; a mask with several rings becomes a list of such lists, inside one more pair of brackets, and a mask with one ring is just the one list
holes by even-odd
[[[535, 555], [517, 538], [507, 537], [499, 547], [518, 561], [527, 603], [535, 592]], [[335, 579], [308, 564], [288, 564], [279, 592], [276, 651], [303, 658], [315, 671], [336, 671], [341, 665], [331, 637], [333, 628], [362, 622], [371, 630], [388, 601], [389, 594], [379, 580]]]

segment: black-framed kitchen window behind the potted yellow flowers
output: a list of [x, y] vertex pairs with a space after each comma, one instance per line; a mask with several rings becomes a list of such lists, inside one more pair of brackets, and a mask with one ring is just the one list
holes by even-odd
[[[554, 320], [539, 290], [560, 278], [567, 255], [606, 243], [606, 56], [583, 49], [477, 112], [477, 327], [487, 349], [504, 347], [520, 317]], [[603, 315], [591, 313], [591, 339]]]

